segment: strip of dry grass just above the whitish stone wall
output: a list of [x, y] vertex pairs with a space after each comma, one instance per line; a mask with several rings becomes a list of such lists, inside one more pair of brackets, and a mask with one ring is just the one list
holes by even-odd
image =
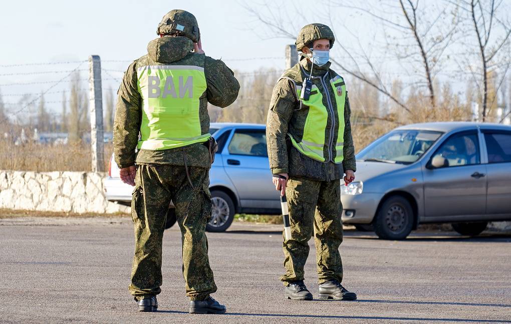
[[[14, 145], [12, 141], [0, 141], [0, 169], [24, 171], [90, 171], [90, 145], [74, 143], [66, 145], [43, 145], [27, 142]], [[105, 170], [112, 154], [112, 144], [105, 143]]]

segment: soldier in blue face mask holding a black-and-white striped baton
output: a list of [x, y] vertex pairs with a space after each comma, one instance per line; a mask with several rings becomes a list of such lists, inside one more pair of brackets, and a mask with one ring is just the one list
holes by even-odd
[[[268, 157], [275, 188], [286, 195], [291, 239], [284, 242], [284, 295], [311, 300], [304, 284], [308, 241], [314, 235], [319, 298], [354, 300], [341, 285], [340, 179], [355, 179], [350, 103], [343, 79], [330, 69], [335, 38], [328, 26], [308, 24], [299, 32], [299, 62], [278, 80], [267, 121]], [[313, 63], [314, 62], [314, 63]], [[314, 64], [314, 65], [313, 65]], [[312, 69], [312, 74], [311, 74]], [[304, 80], [310, 77], [310, 85]], [[303, 95], [309, 87], [310, 96]]]

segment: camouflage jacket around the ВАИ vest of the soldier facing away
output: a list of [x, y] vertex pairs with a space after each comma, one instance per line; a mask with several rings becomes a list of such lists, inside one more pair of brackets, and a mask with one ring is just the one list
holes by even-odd
[[173, 149], [151, 151], [141, 149], [135, 154], [142, 122], [142, 96], [137, 87], [137, 68], [147, 65], [204, 64], [207, 89], [200, 97], [199, 117], [202, 134], [210, 130], [207, 103], [224, 108], [238, 97], [240, 84], [222, 61], [204, 54], [190, 52], [193, 42], [186, 37], [163, 37], [149, 42], [147, 54], [130, 64], [119, 87], [113, 122], [113, 151], [120, 168], [135, 164], [183, 165], [210, 167], [210, 155], [202, 143]]

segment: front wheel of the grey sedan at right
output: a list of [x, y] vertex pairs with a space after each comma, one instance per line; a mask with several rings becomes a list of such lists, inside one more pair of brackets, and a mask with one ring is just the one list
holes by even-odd
[[391, 196], [383, 203], [373, 223], [376, 235], [385, 240], [402, 240], [413, 227], [413, 210], [403, 196]]

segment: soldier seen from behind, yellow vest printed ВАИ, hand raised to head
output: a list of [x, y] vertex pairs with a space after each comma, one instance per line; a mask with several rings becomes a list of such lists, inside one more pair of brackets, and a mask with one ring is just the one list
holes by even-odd
[[157, 34], [160, 37], [149, 42], [148, 53], [124, 74], [114, 120], [115, 162], [121, 179], [135, 186], [129, 290], [138, 310], [156, 311], [162, 237], [172, 200], [181, 229], [190, 313], [224, 313], [225, 306], [210, 296], [217, 286], [205, 235], [211, 219], [208, 172], [214, 150], [210, 147], [215, 144], [207, 103], [230, 105], [240, 85], [222, 61], [204, 55], [191, 13], [170, 11], [158, 24]]

